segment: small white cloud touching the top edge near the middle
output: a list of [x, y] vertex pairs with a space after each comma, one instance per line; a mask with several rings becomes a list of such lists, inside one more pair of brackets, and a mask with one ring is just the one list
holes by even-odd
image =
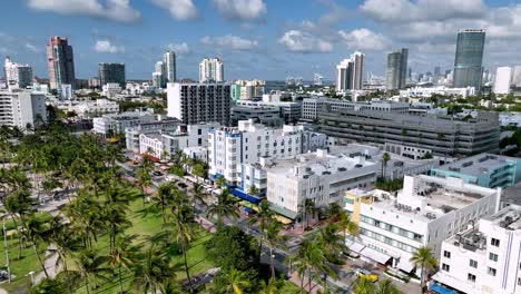
[[213, 0], [219, 12], [232, 20], [258, 20], [267, 12], [263, 0]]

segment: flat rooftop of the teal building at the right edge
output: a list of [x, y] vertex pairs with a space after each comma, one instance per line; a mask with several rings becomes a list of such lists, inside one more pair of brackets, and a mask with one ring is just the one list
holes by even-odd
[[488, 174], [490, 170], [494, 170], [495, 168], [515, 160], [520, 159], [501, 155], [479, 154], [450, 163], [436, 169], [479, 177], [480, 175]]

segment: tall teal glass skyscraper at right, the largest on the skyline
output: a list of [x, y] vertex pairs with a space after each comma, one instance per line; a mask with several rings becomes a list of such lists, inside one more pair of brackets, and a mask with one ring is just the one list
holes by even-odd
[[458, 32], [454, 60], [454, 88], [474, 87], [481, 90], [485, 31], [476, 29]]

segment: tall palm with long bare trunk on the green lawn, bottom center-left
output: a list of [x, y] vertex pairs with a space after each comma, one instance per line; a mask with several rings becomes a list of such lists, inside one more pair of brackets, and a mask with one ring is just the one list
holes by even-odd
[[180, 245], [184, 257], [186, 278], [188, 280], [188, 285], [191, 293], [194, 292], [194, 288], [191, 286], [190, 272], [188, 267], [187, 251], [191, 241], [196, 236], [195, 226], [197, 223], [194, 219], [194, 210], [191, 206], [180, 206], [177, 210], [174, 212], [173, 215], [171, 236], [174, 241]]

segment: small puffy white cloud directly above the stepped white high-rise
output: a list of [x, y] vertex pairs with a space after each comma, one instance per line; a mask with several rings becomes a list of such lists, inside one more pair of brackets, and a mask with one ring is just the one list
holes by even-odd
[[352, 31], [338, 31], [342, 40], [350, 49], [382, 51], [391, 47], [391, 41], [381, 33], [362, 28]]

